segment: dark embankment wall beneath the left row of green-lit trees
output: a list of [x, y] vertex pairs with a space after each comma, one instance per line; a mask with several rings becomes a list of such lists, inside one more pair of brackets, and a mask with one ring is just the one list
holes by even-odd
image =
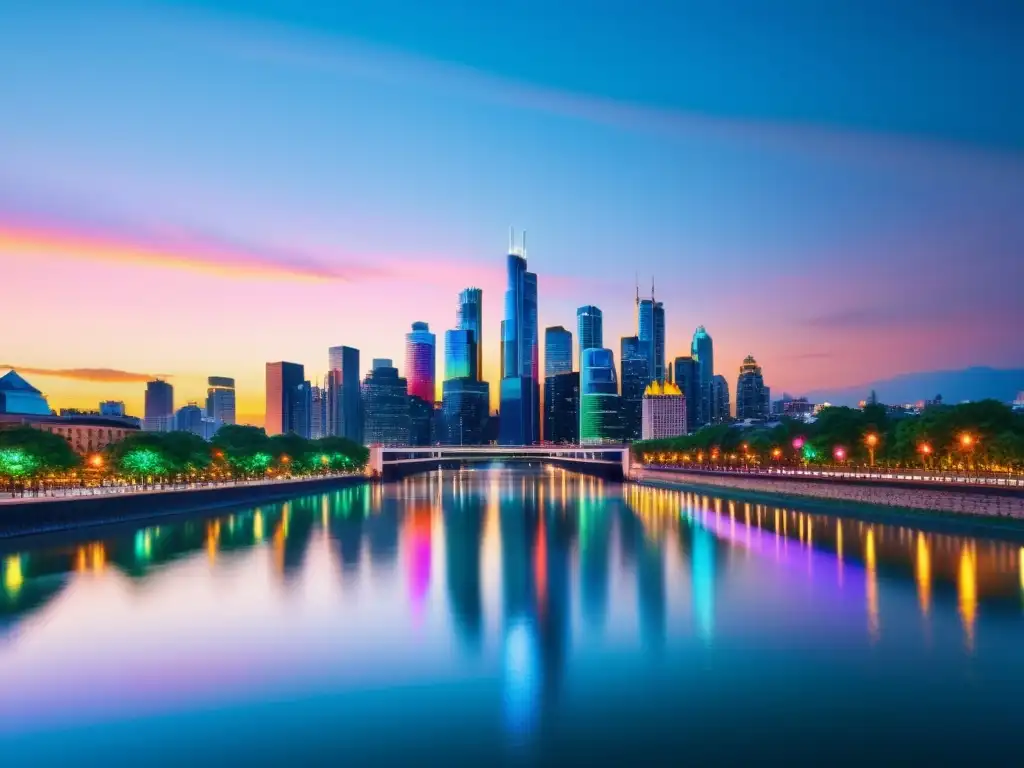
[[368, 481], [361, 475], [337, 475], [215, 487], [9, 500], [0, 505], [0, 539], [220, 511], [322, 494]]

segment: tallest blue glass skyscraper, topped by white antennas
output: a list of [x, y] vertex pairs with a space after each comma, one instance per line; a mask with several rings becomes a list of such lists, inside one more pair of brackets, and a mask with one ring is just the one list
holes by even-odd
[[505, 319], [502, 322], [501, 437], [504, 445], [540, 439], [537, 275], [526, 271], [525, 237], [518, 251], [510, 243]]

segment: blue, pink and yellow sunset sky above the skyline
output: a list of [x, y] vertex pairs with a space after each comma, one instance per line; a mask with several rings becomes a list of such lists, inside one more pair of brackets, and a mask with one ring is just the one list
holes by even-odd
[[510, 226], [542, 328], [596, 304], [616, 357], [653, 281], [733, 386], [1020, 366], [1022, 39], [1012, 0], [0, 0], [0, 370], [139, 415], [231, 376], [261, 423], [267, 361], [402, 369], [475, 286], [496, 392]]

